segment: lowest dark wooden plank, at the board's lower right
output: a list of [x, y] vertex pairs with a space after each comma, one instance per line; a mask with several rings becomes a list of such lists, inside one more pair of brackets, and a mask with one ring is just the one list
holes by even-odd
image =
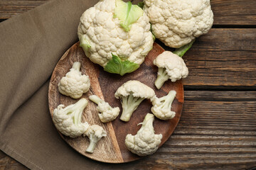
[[[105, 169], [249, 169], [256, 166], [256, 91], [185, 91], [180, 123], [159, 150]], [[0, 152], [1, 164], [9, 157]]]

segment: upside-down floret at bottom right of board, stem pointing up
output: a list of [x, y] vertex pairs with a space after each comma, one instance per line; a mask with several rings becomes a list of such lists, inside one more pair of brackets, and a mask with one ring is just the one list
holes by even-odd
[[139, 129], [137, 134], [128, 134], [126, 136], [125, 145], [129, 151], [141, 157], [156, 152], [161, 143], [162, 135], [154, 134], [153, 121], [154, 115], [147, 113], [143, 123], [140, 123], [142, 124], [142, 128]]

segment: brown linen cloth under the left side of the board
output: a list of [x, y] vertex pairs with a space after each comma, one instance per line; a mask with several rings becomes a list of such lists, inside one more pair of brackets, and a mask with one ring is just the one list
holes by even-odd
[[48, 109], [50, 75], [78, 41], [82, 12], [96, 3], [50, 1], [0, 23], [0, 149], [30, 169], [119, 166], [95, 162], [72, 149], [58, 134]]

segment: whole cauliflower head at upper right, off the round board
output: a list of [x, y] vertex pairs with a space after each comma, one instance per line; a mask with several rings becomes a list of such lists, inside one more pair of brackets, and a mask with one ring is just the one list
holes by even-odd
[[169, 47], [178, 48], [213, 26], [210, 0], [144, 0], [156, 38]]

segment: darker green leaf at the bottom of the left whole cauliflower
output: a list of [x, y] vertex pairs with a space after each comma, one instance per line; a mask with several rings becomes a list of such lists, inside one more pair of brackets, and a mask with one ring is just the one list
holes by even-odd
[[107, 62], [104, 70], [106, 72], [120, 74], [123, 76], [126, 73], [134, 72], [138, 68], [139, 64], [130, 62], [129, 60], [122, 61], [117, 55], [112, 54], [112, 60]]

